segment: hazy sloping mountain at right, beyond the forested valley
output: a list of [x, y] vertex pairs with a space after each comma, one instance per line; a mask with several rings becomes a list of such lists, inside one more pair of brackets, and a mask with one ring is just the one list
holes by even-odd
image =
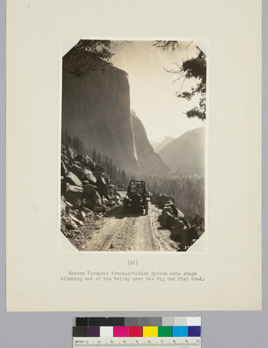
[[205, 175], [205, 127], [182, 134], [159, 155], [173, 172]]

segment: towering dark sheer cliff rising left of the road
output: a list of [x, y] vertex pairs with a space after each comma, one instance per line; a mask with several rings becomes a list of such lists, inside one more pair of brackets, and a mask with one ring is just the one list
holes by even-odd
[[[69, 71], [75, 66], [75, 62], [64, 64]], [[95, 148], [129, 172], [141, 171], [145, 164], [145, 171], [166, 171], [130, 109], [127, 72], [112, 65], [106, 65], [104, 74], [96, 70], [81, 79], [63, 70], [62, 131], [65, 129], [71, 136], [79, 136], [85, 153], [90, 155]], [[72, 159], [73, 154], [66, 157]], [[88, 166], [88, 159], [79, 160]]]

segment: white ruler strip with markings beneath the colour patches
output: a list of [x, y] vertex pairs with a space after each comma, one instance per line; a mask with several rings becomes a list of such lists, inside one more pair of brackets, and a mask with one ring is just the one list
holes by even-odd
[[200, 348], [201, 338], [198, 337], [139, 337], [139, 338], [73, 338], [73, 348], [98, 348], [98, 347], [129, 347], [129, 348], [155, 348], [155, 347], [184, 347]]

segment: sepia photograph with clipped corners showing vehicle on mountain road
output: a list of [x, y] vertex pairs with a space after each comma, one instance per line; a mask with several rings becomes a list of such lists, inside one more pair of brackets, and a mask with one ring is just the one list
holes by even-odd
[[187, 252], [205, 232], [205, 52], [78, 39], [61, 67], [61, 233], [78, 251]]

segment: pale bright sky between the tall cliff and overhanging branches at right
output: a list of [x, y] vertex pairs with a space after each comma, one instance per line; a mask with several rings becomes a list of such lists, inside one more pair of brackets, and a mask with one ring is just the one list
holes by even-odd
[[[174, 53], [163, 52], [152, 46], [152, 41], [123, 42], [117, 45], [112, 58], [113, 65], [129, 74], [130, 103], [136, 116], [146, 129], [149, 140], [162, 141], [165, 136], [178, 138], [190, 129], [203, 126], [197, 118], [187, 118], [183, 112], [198, 105], [198, 98], [187, 100], [174, 97], [182, 80], [173, 83], [175, 77], [164, 71], [175, 68], [172, 63], [196, 56], [196, 46], [182, 42]], [[183, 90], [189, 90], [185, 81]]]

